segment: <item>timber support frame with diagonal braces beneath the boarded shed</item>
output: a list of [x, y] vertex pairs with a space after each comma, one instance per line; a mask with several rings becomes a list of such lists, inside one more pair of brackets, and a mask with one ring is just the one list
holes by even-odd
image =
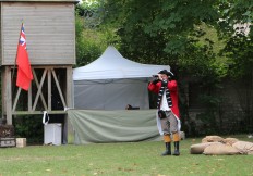
[[[32, 67], [34, 83], [32, 84], [32, 87], [28, 89], [27, 93], [23, 92], [27, 95], [27, 104], [24, 105], [27, 108], [26, 110], [23, 110], [21, 106], [21, 110], [17, 110], [19, 102], [24, 102], [21, 96], [22, 91], [24, 90], [19, 88], [14, 95], [12, 90], [12, 86], [15, 86], [14, 80], [12, 80], [13, 68], [13, 66], [4, 66], [4, 72], [2, 75], [4, 80], [2, 85], [2, 115], [7, 118], [7, 123], [9, 125], [12, 125], [12, 115], [43, 114], [43, 111], [47, 111], [48, 114], [67, 114], [65, 109], [72, 108], [72, 66], [60, 65]], [[43, 71], [40, 77], [38, 77], [38, 70]], [[59, 72], [64, 72], [62, 76], [64, 79], [61, 79], [61, 81], [63, 80], [64, 83], [60, 84], [60, 80], [58, 79], [58, 77], [60, 77], [60, 75], [58, 75]], [[47, 85], [46, 88], [45, 85]], [[52, 86], [57, 87], [57, 91], [55, 90], [55, 92], [52, 92]], [[46, 93], [47, 97], [45, 97]], [[52, 93], [59, 95], [57, 100], [60, 104], [62, 104], [62, 110], [52, 109]], [[13, 95], [14, 97], [12, 97]], [[40, 105], [38, 105], [39, 100], [41, 102]]]

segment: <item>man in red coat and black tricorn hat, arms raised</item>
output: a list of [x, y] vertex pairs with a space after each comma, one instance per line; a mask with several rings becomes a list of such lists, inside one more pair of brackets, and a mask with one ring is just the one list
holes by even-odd
[[148, 85], [148, 90], [157, 93], [157, 126], [160, 135], [164, 135], [166, 151], [161, 155], [171, 155], [171, 138], [174, 143], [173, 155], [180, 155], [180, 118], [178, 108], [178, 84], [172, 79], [170, 71], [162, 70]]

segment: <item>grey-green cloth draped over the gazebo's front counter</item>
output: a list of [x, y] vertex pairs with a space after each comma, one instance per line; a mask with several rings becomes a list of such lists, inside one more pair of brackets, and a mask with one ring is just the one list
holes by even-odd
[[156, 110], [68, 110], [74, 143], [160, 140]]

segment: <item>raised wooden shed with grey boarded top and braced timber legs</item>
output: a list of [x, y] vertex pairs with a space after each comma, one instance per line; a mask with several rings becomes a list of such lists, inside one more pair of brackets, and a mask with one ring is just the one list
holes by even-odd
[[[72, 66], [75, 64], [77, 0], [0, 0], [0, 65], [2, 117], [65, 114], [72, 108]], [[28, 91], [15, 86], [15, 56], [21, 24], [34, 80]]]

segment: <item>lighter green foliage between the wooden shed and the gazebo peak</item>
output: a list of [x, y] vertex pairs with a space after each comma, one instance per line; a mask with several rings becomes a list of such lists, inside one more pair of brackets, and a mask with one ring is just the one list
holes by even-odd
[[113, 32], [101, 25], [98, 15], [100, 4], [83, 2], [76, 5], [75, 33], [76, 33], [76, 66], [86, 65], [105, 51], [108, 45], [117, 40]]

